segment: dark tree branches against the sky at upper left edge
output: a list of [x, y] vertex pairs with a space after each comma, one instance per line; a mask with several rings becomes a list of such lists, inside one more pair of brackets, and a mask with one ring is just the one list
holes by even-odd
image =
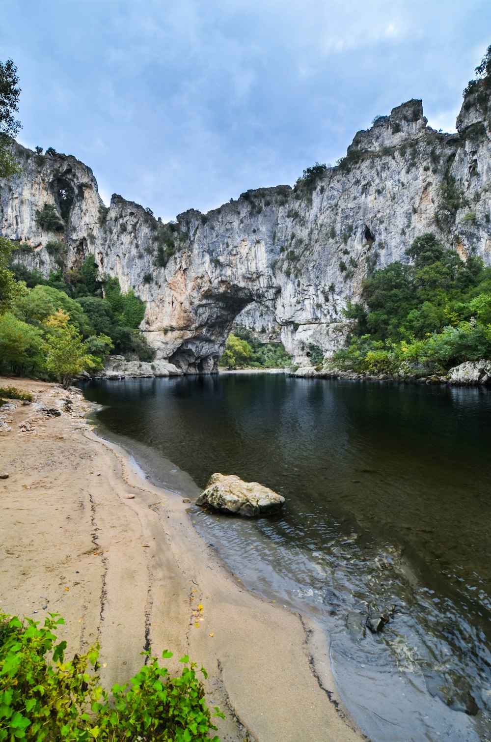
[[16, 136], [21, 122], [14, 113], [19, 111], [19, 77], [12, 59], [0, 62], [0, 177], [6, 178], [20, 172], [19, 162], [8, 149], [10, 139]]

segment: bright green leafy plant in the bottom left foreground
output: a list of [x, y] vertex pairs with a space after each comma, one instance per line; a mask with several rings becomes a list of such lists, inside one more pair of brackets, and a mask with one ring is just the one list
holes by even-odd
[[[89, 671], [99, 668], [99, 645], [66, 661], [67, 644], [56, 643], [54, 633], [63, 623], [58, 614], [49, 614], [44, 626], [0, 614], [0, 742], [210, 742], [208, 732], [217, 727], [194, 663], [171, 678], [156, 657], [142, 652], [148, 664], [108, 694]], [[162, 653], [169, 657], [170, 651]], [[179, 661], [186, 665], [189, 658]], [[213, 716], [223, 718], [217, 708]]]

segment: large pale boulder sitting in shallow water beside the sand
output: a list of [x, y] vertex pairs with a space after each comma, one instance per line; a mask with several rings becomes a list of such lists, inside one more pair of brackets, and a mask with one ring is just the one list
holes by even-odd
[[283, 508], [284, 502], [284, 497], [258, 482], [243, 482], [235, 474], [215, 473], [196, 504], [252, 518], [275, 513]]

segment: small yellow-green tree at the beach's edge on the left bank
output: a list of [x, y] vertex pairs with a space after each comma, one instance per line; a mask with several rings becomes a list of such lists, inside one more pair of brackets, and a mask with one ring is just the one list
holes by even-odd
[[45, 322], [49, 332], [44, 348], [45, 367], [62, 382], [64, 389], [70, 386], [74, 376], [98, 365], [88, 354], [82, 335], [69, 321], [70, 315], [59, 309]]

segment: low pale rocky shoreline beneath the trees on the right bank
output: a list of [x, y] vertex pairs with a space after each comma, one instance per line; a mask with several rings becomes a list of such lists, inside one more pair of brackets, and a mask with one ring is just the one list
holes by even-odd
[[316, 370], [312, 366], [302, 366], [289, 374], [295, 378], [332, 378], [352, 381], [399, 381], [403, 384], [449, 384], [458, 387], [484, 387], [491, 385], [491, 361], [464, 361], [449, 369], [448, 374], [368, 374], [338, 369]]

